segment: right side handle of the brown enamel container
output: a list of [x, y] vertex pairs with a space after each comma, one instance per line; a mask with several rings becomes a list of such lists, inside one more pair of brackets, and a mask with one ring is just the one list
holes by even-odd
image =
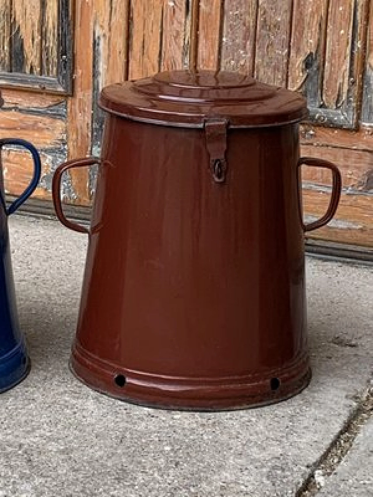
[[305, 166], [312, 166], [312, 167], [324, 167], [325, 169], [330, 169], [333, 174], [333, 185], [332, 185], [332, 196], [330, 198], [330, 203], [328, 210], [326, 211], [326, 214], [318, 219], [317, 221], [313, 221], [312, 223], [309, 224], [304, 224], [303, 219], [302, 219], [302, 212], [301, 212], [301, 205], [300, 205], [300, 192], [298, 188], [298, 206], [299, 206], [299, 214], [300, 214], [300, 220], [302, 223], [302, 227], [304, 232], [307, 231], [312, 231], [312, 230], [317, 230], [317, 228], [321, 228], [322, 226], [325, 226], [326, 224], [333, 219], [334, 214], [336, 213], [338, 204], [339, 204], [339, 199], [341, 197], [341, 189], [342, 189], [342, 180], [341, 180], [341, 173], [338, 169], [338, 167], [333, 164], [332, 162], [325, 161], [324, 159], [316, 159], [313, 157], [301, 157], [298, 160], [296, 172], [297, 172], [297, 183], [299, 184], [298, 178], [299, 178], [299, 167], [304, 164]]

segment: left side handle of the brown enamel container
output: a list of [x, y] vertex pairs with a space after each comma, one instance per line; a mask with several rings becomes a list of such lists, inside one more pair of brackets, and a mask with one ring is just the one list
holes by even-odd
[[61, 176], [65, 171], [73, 167], [88, 167], [93, 166], [94, 164], [100, 165], [100, 160], [97, 159], [97, 157], [87, 157], [86, 159], [65, 162], [64, 164], [61, 164], [61, 166], [57, 167], [52, 180], [53, 204], [58, 219], [64, 226], [66, 226], [66, 228], [77, 231], [78, 233], [85, 233], [86, 235], [90, 233], [90, 230], [84, 226], [80, 226], [79, 224], [69, 221], [63, 213], [61, 205]]

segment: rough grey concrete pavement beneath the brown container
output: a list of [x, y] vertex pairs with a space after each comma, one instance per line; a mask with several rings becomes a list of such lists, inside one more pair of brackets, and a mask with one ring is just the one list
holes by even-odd
[[[87, 236], [21, 216], [9, 229], [32, 368], [0, 396], [0, 497], [373, 495], [372, 266], [307, 259], [303, 393], [254, 410], [166, 412], [95, 393], [68, 369]], [[349, 436], [329, 475], [322, 461]]]

